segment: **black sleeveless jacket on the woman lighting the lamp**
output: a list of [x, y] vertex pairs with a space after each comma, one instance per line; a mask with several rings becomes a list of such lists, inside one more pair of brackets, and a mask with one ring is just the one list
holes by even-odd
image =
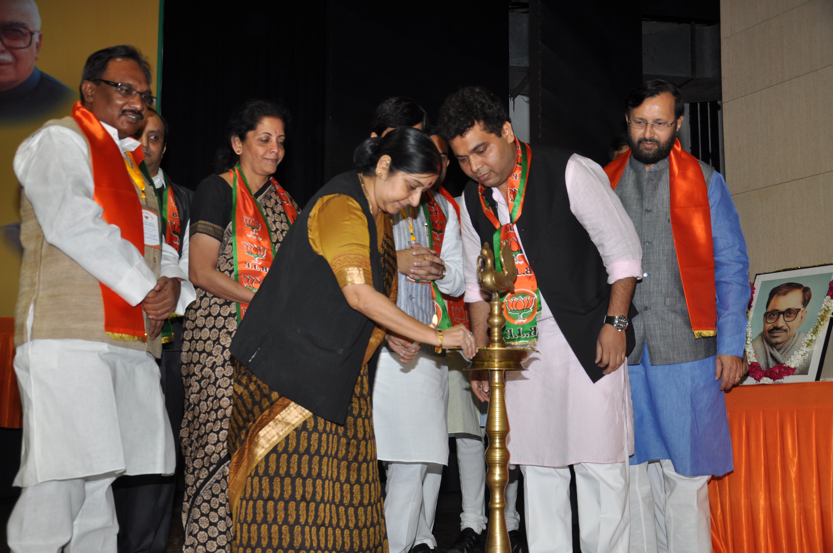
[[374, 323], [347, 304], [327, 260], [310, 245], [310, 212], [330, 194], [345, 194], [362, 206], [370, 233], [372, 284], [385, 292], [376, 221], [357, 172], [342, 173], [312, 197], [287, 232], [237, 327], [231, 351], [272, 390], [343, 425]]

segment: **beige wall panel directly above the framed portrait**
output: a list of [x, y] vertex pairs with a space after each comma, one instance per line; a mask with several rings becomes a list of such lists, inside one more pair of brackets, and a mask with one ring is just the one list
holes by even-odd
[[749, 275], [833, 262], [833, 172], [732, 196]]

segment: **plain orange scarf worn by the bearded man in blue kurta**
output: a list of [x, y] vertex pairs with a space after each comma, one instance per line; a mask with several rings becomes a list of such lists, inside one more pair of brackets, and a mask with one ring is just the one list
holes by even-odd
[[[631, 151], [605, 167], [611, 188], [625, 172]], [[696, 338], [717, 336], [715, 252], [711, 242], [711, 209], [703, 170], [697, 158], [674, 141], [668, 156], [671, 187], [671, 232], [674, 234], [682, 289]]]

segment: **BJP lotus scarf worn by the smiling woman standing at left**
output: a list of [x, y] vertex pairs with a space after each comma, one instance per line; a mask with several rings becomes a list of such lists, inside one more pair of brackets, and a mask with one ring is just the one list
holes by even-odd
[[[229, 170], [232, 177], [232, 234], [234, 251], [234, 280], [246, 286], [251, 291], [257, 291], [269, 267], [275, 259], [275, 246], [272, 244], [272, 234], [260, 202], [252, 194], [246, 176], [240, 170], [240, 164]], [[242, 186], [241, 186], [242, 182]], [[281, 199], [283, 211], [287, 214], [289, 224], [298, 218], [295, 206], [289, 194], [274, 177], [269, 182], [275, 187], [277, 197]], [[243, 320], [249, 304], [237, 303], [237, 324]]]

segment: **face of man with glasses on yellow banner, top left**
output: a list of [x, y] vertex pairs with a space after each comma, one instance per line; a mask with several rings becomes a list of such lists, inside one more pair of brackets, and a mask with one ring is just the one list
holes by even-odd
[[32, 0], [0, 0], [0, 91], [25, 81], [41, 50], [41, 17]]

